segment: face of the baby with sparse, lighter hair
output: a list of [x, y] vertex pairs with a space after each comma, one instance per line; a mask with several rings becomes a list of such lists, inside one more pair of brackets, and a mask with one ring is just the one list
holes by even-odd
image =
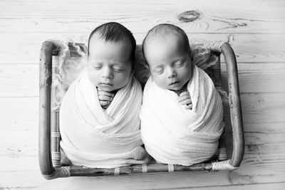
[[176, 35], [150, 39], [145, 47], [145, 58], [150, 75], [160, 88], [180, 90], [190, 80], [190, 52], [185, 51]]

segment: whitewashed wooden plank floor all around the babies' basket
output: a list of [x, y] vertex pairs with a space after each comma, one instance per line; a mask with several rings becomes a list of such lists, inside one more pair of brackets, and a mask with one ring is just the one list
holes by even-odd
[[[284, 10], [281, 0], [1, 0], [0, 189], [285, 189]], [[179, 20], [185, 11], [199, 17]], [[185, 29], [191, 43], [220, 40], [232, 45], [246, 144], [239, 169], [43, 179], [38, 167], [41, 43], [86, 43], [90, 31], [108, 21], [123, 23], [138, 43], [156, 24], [174, 23]], [[225, 76], [223, 63], [227, 85]], [[229, 122], [227, 113], [226, 118]]]

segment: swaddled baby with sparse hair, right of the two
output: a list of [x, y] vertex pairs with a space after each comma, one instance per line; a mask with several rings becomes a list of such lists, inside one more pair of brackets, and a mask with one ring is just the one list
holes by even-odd
[[224, 127], [222, 99], [193, 63], [186, 33], [170, 24], [155, 26], [142, 52], [150, 69], [140, 113], [145, 149], [165, 164], [210, 159]]

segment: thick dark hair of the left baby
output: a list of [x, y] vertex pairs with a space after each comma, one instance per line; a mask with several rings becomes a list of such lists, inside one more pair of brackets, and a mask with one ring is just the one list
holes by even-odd
[[94, 34], [98, 35], [98, 38], [102, 39], [105, 42], [118, 42], [118, 41], [124, 41], [126, 39], [129, 40], [132, 46], [130, 59], [132, 60], [132, 68], [134, 68], [135, 48], [137, 47], [137, 45], [135, 43], [135, 38], [133, 36], [133, 33], [129, 31], [128, 28], [125, 28], [125, 26], [116, 22], [103, 23], [102, 25], [95, 28], [90, 33], [88, 39], [88, 56], [89, 56], [90, 39]]

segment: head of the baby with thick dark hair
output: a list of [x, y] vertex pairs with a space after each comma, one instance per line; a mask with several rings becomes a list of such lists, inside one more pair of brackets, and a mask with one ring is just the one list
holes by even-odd
[[104, 23], [90, 33], [88, 77], [96, 87], [112, 92], [127, 85], [135, 63], [135, 38], [120, 23]]

